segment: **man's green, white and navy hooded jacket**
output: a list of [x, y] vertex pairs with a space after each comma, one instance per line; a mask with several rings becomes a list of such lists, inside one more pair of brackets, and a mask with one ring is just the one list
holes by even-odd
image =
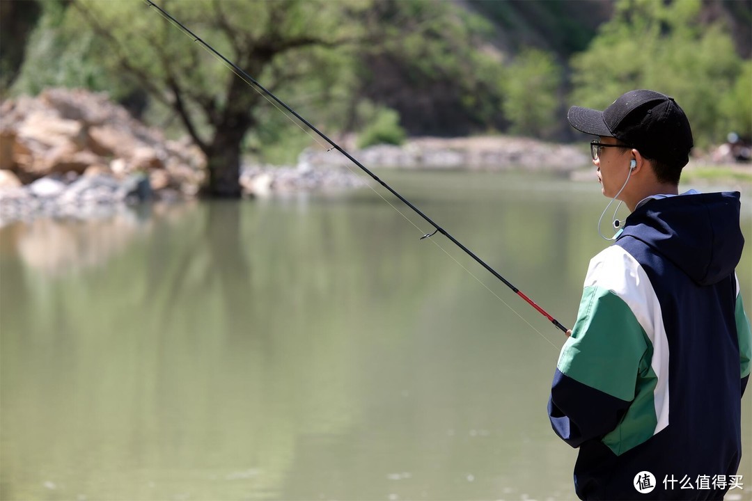
[[[580, 448], [581, 499], [722, 499], [728, 489], [750, 374], [739, 207], [736, 192], [649, 200], [590, 261], [548, 405], [553, 430]], [[643, 494], [645, 471], [656, 487]], [[684, 478], [711, 485], [672, 483]]]

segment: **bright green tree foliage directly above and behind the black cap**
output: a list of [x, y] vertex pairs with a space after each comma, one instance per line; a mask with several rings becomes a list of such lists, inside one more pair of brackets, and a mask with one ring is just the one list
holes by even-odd
[[684, 108], [696, 146], [723, 140], [722, 97], [737, 84], [741, 59], [723, 26], [700, 25], [700, 8], [700, 0], [617, 2], [590, 48], [572, 58], [572, 102], [602, 109], [623, 92], [655, 89]]

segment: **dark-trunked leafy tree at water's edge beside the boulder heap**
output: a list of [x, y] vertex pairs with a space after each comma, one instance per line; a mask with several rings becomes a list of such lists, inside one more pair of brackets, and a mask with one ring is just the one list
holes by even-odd
[[[265, 96], [156, 9], [140, 2], [74, 5], [78, 20], [108, 49], [102, 64], [174, 110], [205, 152], [205, 193], [238, 197], [244, 137], [259, 124], [259, 109], [268, 105]], [[320, 62], [331, 63], [329, 51], [358, 35], [356, 23], [348, 23], [359, 9], [356, 2], [202, 0], [162, 6], [268, 89], [336, 71]]]

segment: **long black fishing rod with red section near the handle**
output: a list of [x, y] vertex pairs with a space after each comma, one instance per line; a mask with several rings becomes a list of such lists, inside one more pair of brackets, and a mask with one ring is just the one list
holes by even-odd
[[156, 5], [151, 0], [144, 0], [147, 5], [150, 7], [156, 8], [162, 16], [164, 16], [166, 19], [170, 20], [174, 25], [178, 26], [180, 29], [183, 30], [186, 34], [190, 35], [193, 38], [193, 41], [199, 42], [199, 44], [202, 44], [206, 49], [210, 50], [211, 53], [214, 53], [217, 57], [222, 59], [224, 62], [226, 62], [228, 65], [230, 65], [237, 73], [238, 76], [242, 76], [248, 83], [253, 84], [253, 86], [256, 86], [256, 89], [259, 89], [261, 92], [264, 92], [265, 95], [268, 95], [269, 98], [273, 99], [277, 104], [279, 104], [281, 107], [284, 107], [285, 110], [289, 111], [293, 116], [295, 116], [297, 119], [299, 119], [302, 123], [304, 123], [308, 128], [310, 128], [312, 131], [314, 131], [316, 134], [318, 134], [323, 140], [325, 140], [327, 143], [332, 145], [331, 148], [329, 148], [327, 151], [331, 151], [332, 149], [336, 149], [338, 152], [340, 152], [342, 155], [347, 157], [348, 160], [352, 161], [353, 164], [356, 164], [365, 174], [368, 174], [371, 178], [373, 178], [374, 181], [381, 184], [381, 186], [384, 186], [385, 189], [387, 189], [392, 195], [396, 196], [396, 198], [399, 198], [400, 201], [402, 201], [403, 204], [410, 207], [412, 210], [414, 210], [415, 213], [417, 213], [418, 216], [422, 217], [426, 220], [426, 222], [429, 223], [434, 229], [434, 231], [430, 234], [425, 234], [423, 237], [420, 237], [420, 240], [423, 240], [425, 238], [433, 237], [437, 232], [444, 235], [444, 237], [447, 237], [454, 245], [458, 246], [459, 249], [462, 249], [467, 255], [469, 255], [471, 258], [475, 259], [475, 261], [478, 262], [478, 264], [481, 264], [482, 267], [486, 268], [486, 270], [490, 271], [490, 273], [493, 276], [496, 276], [497, 279], [501, 280], [504, 285], [506, 285], [508, 288], [511, 288], [511, 290], [514, 292], [514, 294], [517, 294], [520, 296], [523, 300], [526, 301], [530, 306], [535, 308], [541, 315], [548, 318], [548, 320], [554, 324], [559, 330], [562, 330], [562, 332], [566, 333], [567, 328], [564, 327], [562, 324], [559, 323], [556, 318], [553, 318], [551, 315], [546, 312], [541, 306], [538, 306], [538, 304], [535, 303], [532, 299], [527, 297], [523, 291], [520, 291], [517, 287], [511, 284], [507, 279], [505, 279], [503, 276], [501, 276], [496, 270], [494, 270], [492, 267], [490, 267], [488, 264], [486, 264], [485, 261], [483, 261], [481, 258], [479, 258], [477, 255], [475, 255], [474, 252], [472, 252], [470, 249], [462, 245], [462, 243], [459, 242], [459, 240], [456, 240], [456, 238], [452, 237], [449, 233], [447, 233], [444, 228], [441, 228], [441, 226], [437, 225], [435, 222], [432, 221], [429, 216], [426, 216], [426, 214], [423, 213], [420, 209], [415, 207], [413, 204], [411, 204], [410, 201], [408, 201], [405, 197], [400, 195], [398, 192], [396, 192], [391, 186], [389, 186], [387, 183], [384, 183], [376, 174], [368, 170], [368, 168], [365, 167], [365, 165], [361, 164], [359, 161], [356, 160], [356, 158], [353, 157], [353, 155], [350, 155], [347, 151], [345, 151], [341, 146], [339, 146], [337, 143], [335, 143], [333, 140], [329, 139], [326, 134], [324, 134], [322, 131], [320, 131], [318, 128], [314, 127], [311, 122], [308, 122], [305, 118], [300, 116], [296, 110], [293, 110], [290, 106], [288, 106], [284, 101], [280, 100], [280, 98], [277, 98], [276, 95], [274, 95], [271, 91], [266, 89], [264, 86], [262, 86], [256, 79], [251, 77], [249, 74], [247, 74], [242, 68], [239, 68], [238, 65], [235, 65], [234, 62], [227, 59], [222, 54], [218, 53], [217, 50], [214, 50], [214, 47], [211, 47], [211, 45], [207, 44], [205, 41], [202, 40], [198, 35], [196, 35], [194, 32], [192, 32], [190, 29], [188, 29], [183, 23], [180, 23], [180, 21], [176, 20], [174, 17], [172, 17], [170, 14], [168, 14], [167, 11], [160, 8], [159, 5]]

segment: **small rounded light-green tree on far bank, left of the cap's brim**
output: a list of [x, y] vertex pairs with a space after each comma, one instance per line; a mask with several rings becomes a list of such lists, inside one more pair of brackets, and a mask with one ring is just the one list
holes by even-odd
[[503, 80], [504, 113], [514, 134], [547, 137], [560, 123], [557, 89], [562, 71], [553, 56], [541, 50], [524, 50], [508, 66]]

